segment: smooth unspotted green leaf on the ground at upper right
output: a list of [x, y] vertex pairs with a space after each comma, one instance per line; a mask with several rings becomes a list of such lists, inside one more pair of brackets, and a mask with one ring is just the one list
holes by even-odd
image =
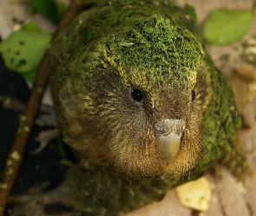
[[252, 10], [213, 10], [204, 23], [203, 35], [210, 43], [226, 45], [246, 35], [252, 22]]

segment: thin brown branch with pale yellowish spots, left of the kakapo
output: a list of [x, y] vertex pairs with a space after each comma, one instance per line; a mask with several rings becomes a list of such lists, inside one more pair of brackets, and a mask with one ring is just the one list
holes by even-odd
[[[82, 5], [85, 4], [84, 2], [87, 3], [83, 0], [71, 0], [71, 3], [62, 17], [61, 22], [58, 24], [56, 33], [74, 19], [74, 17], [82, 10]], [[51, 41], [53, 40], [54, 36], [52, 37]], [[3, 216], [4, 208], [8, 202], [10, 191], [16, 181], [16, 176], [23, 162], [23, 156], [30, 137], [30, 131], [36, 118], [36, 113], [39, 110], [44, 89], [48, 83], [46, 73], [46, 56], [47, 52], [44, 54], [43, 60], [41, 61], [36, 73], [36, 80], [30, 92], [29, 101], [22, 117], [20, 118], [16, 137], [3, 170], [2, 179], [0, 181], [0, 216]]]

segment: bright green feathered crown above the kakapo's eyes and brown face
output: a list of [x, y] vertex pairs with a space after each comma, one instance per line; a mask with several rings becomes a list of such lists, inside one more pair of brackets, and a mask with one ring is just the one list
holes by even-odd
[[194, 86], [203, 50], [187, 29], [161, 16], [152, 16], [109, 35], [107, 58], [119, 68], [125, 82], [174, 88]]

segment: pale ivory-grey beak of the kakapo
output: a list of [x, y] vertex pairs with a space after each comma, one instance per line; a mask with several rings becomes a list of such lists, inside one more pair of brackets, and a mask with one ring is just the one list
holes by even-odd
[[181, 146], [181, 136], [185, 130], [186, 123], [182, 119], [164, 119], [154, 125], [159, 145], [162, 165], [169, 165]]

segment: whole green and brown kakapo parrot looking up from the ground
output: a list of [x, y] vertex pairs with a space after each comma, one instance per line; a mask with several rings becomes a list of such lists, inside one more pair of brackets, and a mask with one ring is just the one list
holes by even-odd
[[48, 59], [62, 137], [80, 160], [67, 206], [125, 213], [216, 162], [240, 177], [233, 93], [174, 3], [100, 0], [62, 30]]

